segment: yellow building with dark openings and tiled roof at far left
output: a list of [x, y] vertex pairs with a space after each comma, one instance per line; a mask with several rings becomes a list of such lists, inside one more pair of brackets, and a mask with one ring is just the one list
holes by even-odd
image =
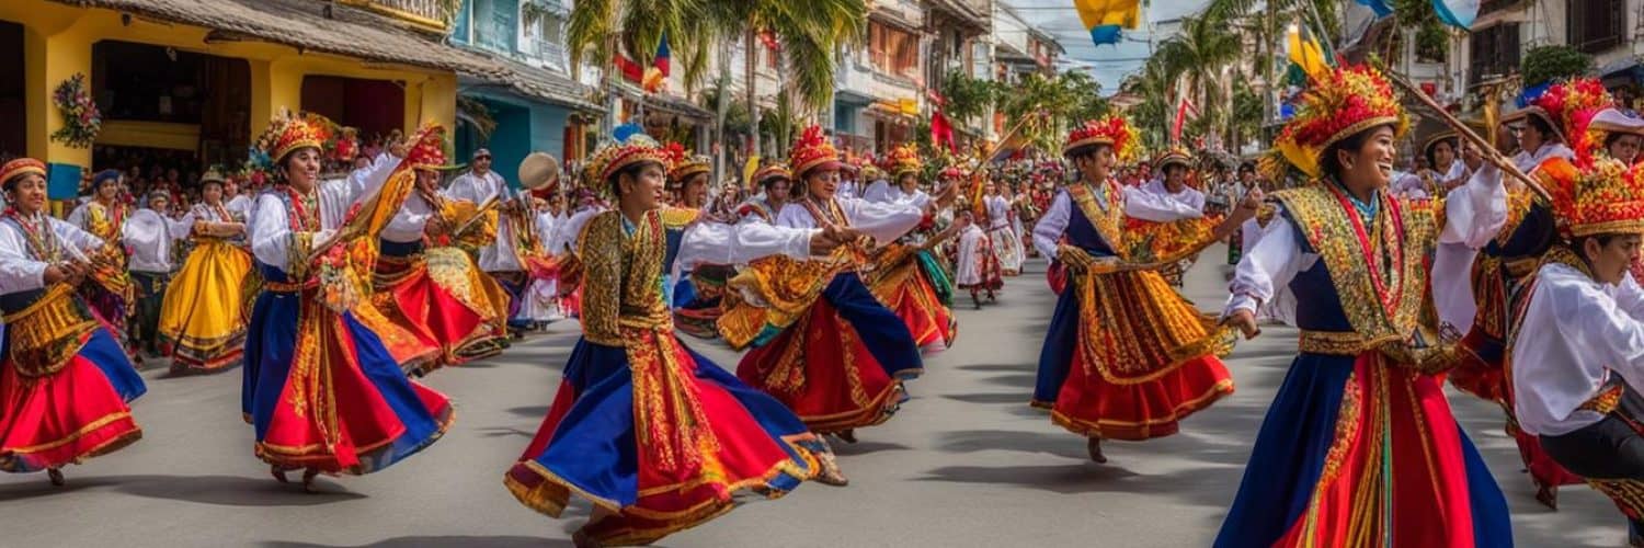
[[[281, 110], [307, 110], [362, 137], [452, 127], [457, 76], [520, 86], [492, 59], [442, 43], [434, 0], [5, 0], [0, 2], [0, 156], [69, 173], [132, 155], [243, 161]], [[85, 74], [104, 122], [90, 148], [53, 140], [53, 91]], [[15, 122], [13, 122], [15, 120]], [[77, 176], [76, 176], [77, 179]], [[69, 196], [64, 196], [69, 193]]]

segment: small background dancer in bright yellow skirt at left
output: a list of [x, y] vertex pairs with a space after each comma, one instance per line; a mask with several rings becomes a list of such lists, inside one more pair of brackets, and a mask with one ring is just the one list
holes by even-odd
[[182, 262], [159, 306], [159, 336], [171, 344], [171, 372], [220, 372], [245, 352], [248, 306], [255, 288], [245, 247], [245, 214], [224, 202], [227, 181], [217, 171], [201, 178], [201, 202], [187, 221], [194, 250]]

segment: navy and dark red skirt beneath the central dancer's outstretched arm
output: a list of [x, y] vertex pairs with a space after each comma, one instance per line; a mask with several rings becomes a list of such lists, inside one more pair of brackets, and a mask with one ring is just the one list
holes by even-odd
[[737, 377], [783, 402], [817, 433], [880, 425], [924, 372], [907, 326], [857, 273], [829, 281], [810, 308], [750, 351]]

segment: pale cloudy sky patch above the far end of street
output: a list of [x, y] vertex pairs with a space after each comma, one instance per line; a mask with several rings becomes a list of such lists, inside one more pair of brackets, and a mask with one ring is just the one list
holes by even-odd
[[1062, 48], [1067, 49], [1067, 58], [1072, 59], [1075, 66], [1088, 64], [1090, 74], [1101, 82], [1101, 94], [1105, 95], [1118, 92], [1120, 81], [1141, 69], [1143, 61], [1146, 61], [1151, 53], [1149, 38], [1152, 41], [1166, 38], [1162, 33], [1149, 36], [1149, 25], [1167, 25], [1171, 20], [1198, 12], [1207, 3], [1207, 0], [1148, 2], [1151, 5], [1144, 8], [1144, 15], [1149, 25], [1143, 25], [1143, 28], [1138, 30], [1126, 30], [1124, 38], [1118, 44], [1097, 46], [1090, 43], [1090, 31], [1078, 21], [1078, 12], [1074, 10], [1074, 0], [1003, 2], [1014, 7], [1016, 12], [1028, 20], [1028, 23], [1037, 25], [1041, 30], [1055, 36], [1055, 39], [1062, 43]]

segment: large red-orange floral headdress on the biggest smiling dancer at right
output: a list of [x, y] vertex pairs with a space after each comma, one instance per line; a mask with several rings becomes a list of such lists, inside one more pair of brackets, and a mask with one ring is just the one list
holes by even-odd
[[1292, 166], [1317, 178], [1320, 155], [1330, 145], [1378, 125], [1392, 125], [1394, 138], [1411, 128], [1392, 84], [1368, 66], [1335, 67], [1314, 77], [1302, 92], [1299, 112], [1272, 146]]

